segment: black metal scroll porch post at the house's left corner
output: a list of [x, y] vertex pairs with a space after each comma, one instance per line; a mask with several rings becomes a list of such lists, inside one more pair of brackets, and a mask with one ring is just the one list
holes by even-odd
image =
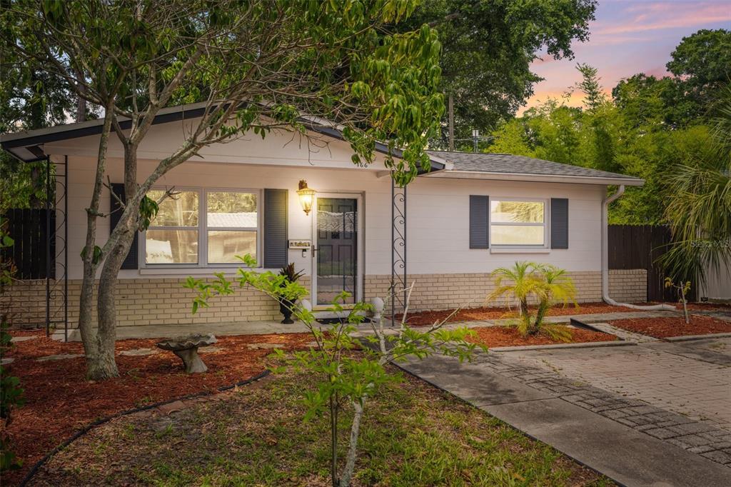
[[[51, 166], [53, 165], [53, 185]], [[61, 172], [63, 169], [63, 172]], [[50, 238], [46, 243], [46, 335], [50, 329], [64, 326], [64, 341], [69, 339], [69, 158], [52, 162], [46, 157], [46, 235], [55, 235], [55, 246]], [[51, 213], [56, 218], [51, 218]], [[51, 225], [55, 228], [51, 228]], [[53, 254], [52, 254], [53, 252]], [[52, 270], [51, 265], [56, 269]], [[54, 272], [55, 271], [55, 272]], [[53, 276], [53, 279], [52, 279]]]

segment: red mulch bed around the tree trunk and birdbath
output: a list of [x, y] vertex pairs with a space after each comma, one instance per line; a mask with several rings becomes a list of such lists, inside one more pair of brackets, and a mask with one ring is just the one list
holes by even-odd
[[[18, 483], [35, 462], [88, 423], [126, 409], [143, 407], [202, 391], [232, 385], [265, 369], [272, 350], [251, 350], [246, 344], [278, 343], [284, 350], [303, 349], [312, 340], [308, 333], [283, 335], [226, 336], [214, 345], [219, 352], [204, 353], [205, 374], [185, 374], [181, 360], [172, 352], [129, 357], [117, 355], [120, 377], [105, 382], [85, 379], [83, 357], [38, 362], [35, 358], [83, 353], [80, 343], [63, 343], [42, 332], [12, 332], [14, 336], [36, 334], [37, 339], [15, 342], [7, 357], [15, 358], [10, 373], [20, 377], [26, 404], [15, 410], [7, 431], [23, 468], [3, 475], [3, 484]], [[156, 339], [121, 340], [116, 350], [151, 348]]]

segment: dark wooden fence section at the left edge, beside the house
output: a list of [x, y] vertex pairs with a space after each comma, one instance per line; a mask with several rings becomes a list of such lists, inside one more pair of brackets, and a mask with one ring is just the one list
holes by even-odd
[[7, 233], [15, 243], [3, 249], [3, 259], [12, 259], [18, 271], [16, 279], [45, 279], [46, 243], [50, 242], [50, 277], [56, 276], [56, 212], [50, 211], [50, 235], [46, 227], [46, 210], [13, 209], [4, 216]]

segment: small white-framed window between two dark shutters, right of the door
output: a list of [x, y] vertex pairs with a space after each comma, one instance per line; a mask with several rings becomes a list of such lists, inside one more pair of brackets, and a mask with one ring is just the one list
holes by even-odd
[[545, 201], [490, 200], [491, 245], [545, 246]]

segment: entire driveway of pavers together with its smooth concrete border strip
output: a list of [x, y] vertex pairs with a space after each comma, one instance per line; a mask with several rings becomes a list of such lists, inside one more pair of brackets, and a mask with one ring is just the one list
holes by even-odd
[[651, 341], [479, 352], [471, 363], [435, 355], [401, 367], [625, 486], [727, 487], [729, 347]]

